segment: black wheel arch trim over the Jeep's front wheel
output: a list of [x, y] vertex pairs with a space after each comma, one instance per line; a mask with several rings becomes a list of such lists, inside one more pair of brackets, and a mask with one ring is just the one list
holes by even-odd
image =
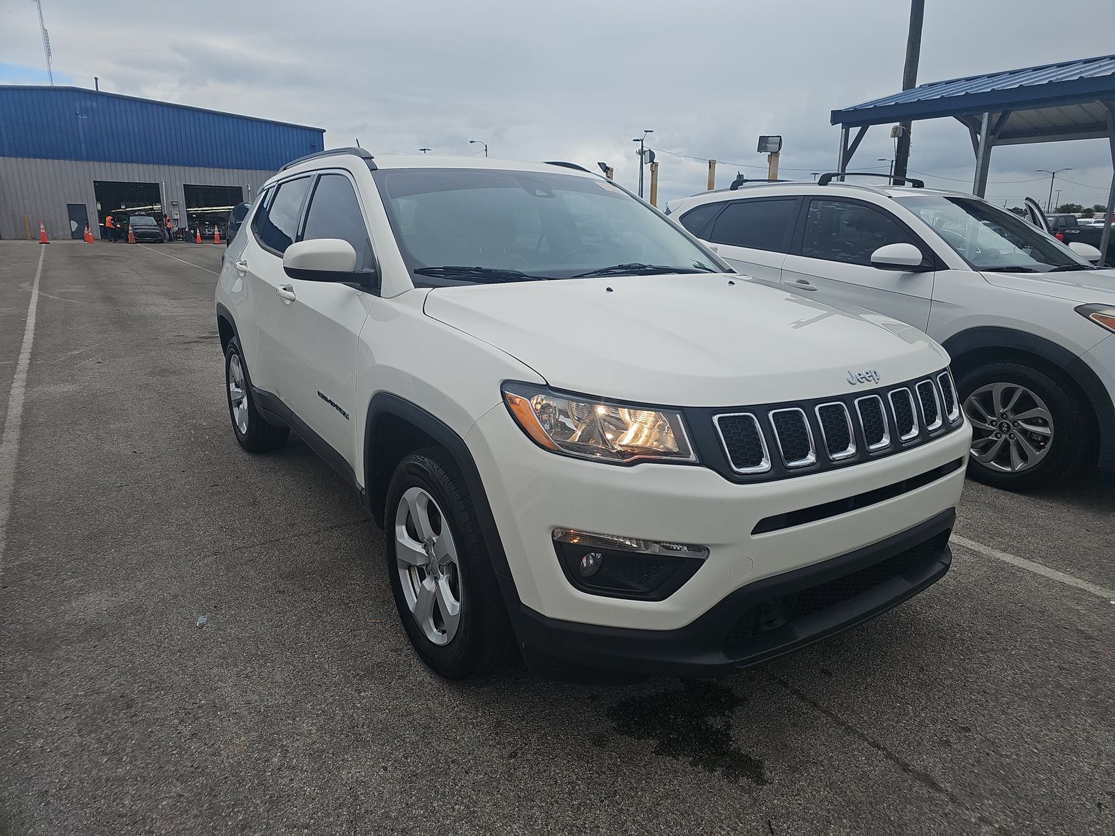
[[376, 455], [372, 439], [375, 438], [377, 425], [387, 416], [399, 418], [414, 425], [448, 450], [449, 455], [457, 463], [465, 484], [468, 486], [469, 498], [473, 500], [481, 533], [484, 535], [484, 544], [487, 546], [488, 557], [492, 560], [492, 568], [495, 571], [496, 579], [500, 582], [500, 589], [503, 592], [507, 610], [512, 613], [517, 612], [521, 605], [518, 591], [515, 589], [515, 582], [511, 575], [511, 565], [507, 563], [507, 554], [503, 548], [503, 539], [500, 537], [500, 529], [495, 523], [495, 515], [492, 513], [492, 505], [488, 503], [487, 492], [484, 489], [484, 482], [481, 479], [479, 469], [476, 467], [473, 454], [468, 450], [468, 445], [465, 444], [464, 438], [457, 435], [440, 418], [423, 409], [417, 404], [390, 392], [376, 392], [371, 397], [368, 402], [367, 420], [363, 425], [365, 493], [368, 497], [367, 502], [369, 503], [372, 516], [377, 518], [377, 522], [381, 522], [379, 517], [382, 509], [377, 507], [380, 505], [380, 497], [371, 495], [372, 492], [369, 482], [370, 474], [374, 472], [372, 463]]

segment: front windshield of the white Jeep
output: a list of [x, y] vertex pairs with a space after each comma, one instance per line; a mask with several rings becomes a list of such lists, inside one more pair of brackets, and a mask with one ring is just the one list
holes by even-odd
[[419, 286], [730, 271], [604, 179], [489, 168], [374, 176]]

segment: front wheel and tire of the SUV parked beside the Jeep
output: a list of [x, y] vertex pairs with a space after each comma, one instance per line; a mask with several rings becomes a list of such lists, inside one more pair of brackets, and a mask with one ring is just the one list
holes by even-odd
[[[972, 425], [968, 475], [973, 479], [1005, 490], [1031, 490], [1086, 463], [1095, 436], [1090, 409], [1060, 376], [992, 362], [964, 373], [957, 389]], [[996, 398], [1002, 409], [989, 422]], [[999, 451], [991, 456], [996, 445]]]

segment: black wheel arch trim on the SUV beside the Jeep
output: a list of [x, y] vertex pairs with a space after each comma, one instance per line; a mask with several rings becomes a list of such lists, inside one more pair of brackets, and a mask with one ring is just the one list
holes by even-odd
[[1061, 369], [1084, 392], [1096, 416], [1101, 467], [1115, 468], [1115, 404], [1103, 381], [1082, 358], [1044, 337], [995, 325], [961, 331], [947, 339], [943, 346], [952, 358], [980, 349], [1017, 349], [1036, 354]]

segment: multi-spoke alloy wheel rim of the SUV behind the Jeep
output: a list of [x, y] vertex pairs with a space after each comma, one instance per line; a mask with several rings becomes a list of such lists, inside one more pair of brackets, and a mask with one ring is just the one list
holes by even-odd
[[992, 470], [1028, 470], [1053, 446], [1049, 407], [1025, 386], [982, 386], [964, 400], [964, 415], [972, 425], [971, 456]]

